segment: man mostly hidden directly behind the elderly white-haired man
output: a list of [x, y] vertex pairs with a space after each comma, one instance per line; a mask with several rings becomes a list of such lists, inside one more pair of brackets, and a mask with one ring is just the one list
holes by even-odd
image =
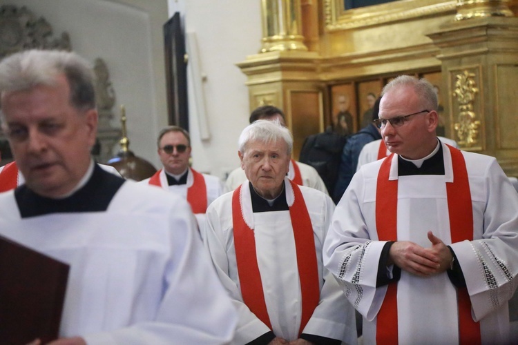
[[[284, 113], [282, 110], [274, 106], [260, 106], [259, 108], [256, 108], [256, 110], [253, 110], [249, 119], [250, 124], [259, 119], [278, 119], [282, 126], [286, 126]], [[299, 186], [315, 188], [325, 194], [328, 194], [324, 181], [312, 166], [308, 166], [307, 164], [290, 159], [288, 178]], [[245, 175], [242, 168], [236, 168], [232, 170], [227, 177], [227, 181], [225, 181], [224, 193], [231, 192], [232, 190], [238, 188], [238, 186], [240, 186], [246, 179], [247, 176]]]

